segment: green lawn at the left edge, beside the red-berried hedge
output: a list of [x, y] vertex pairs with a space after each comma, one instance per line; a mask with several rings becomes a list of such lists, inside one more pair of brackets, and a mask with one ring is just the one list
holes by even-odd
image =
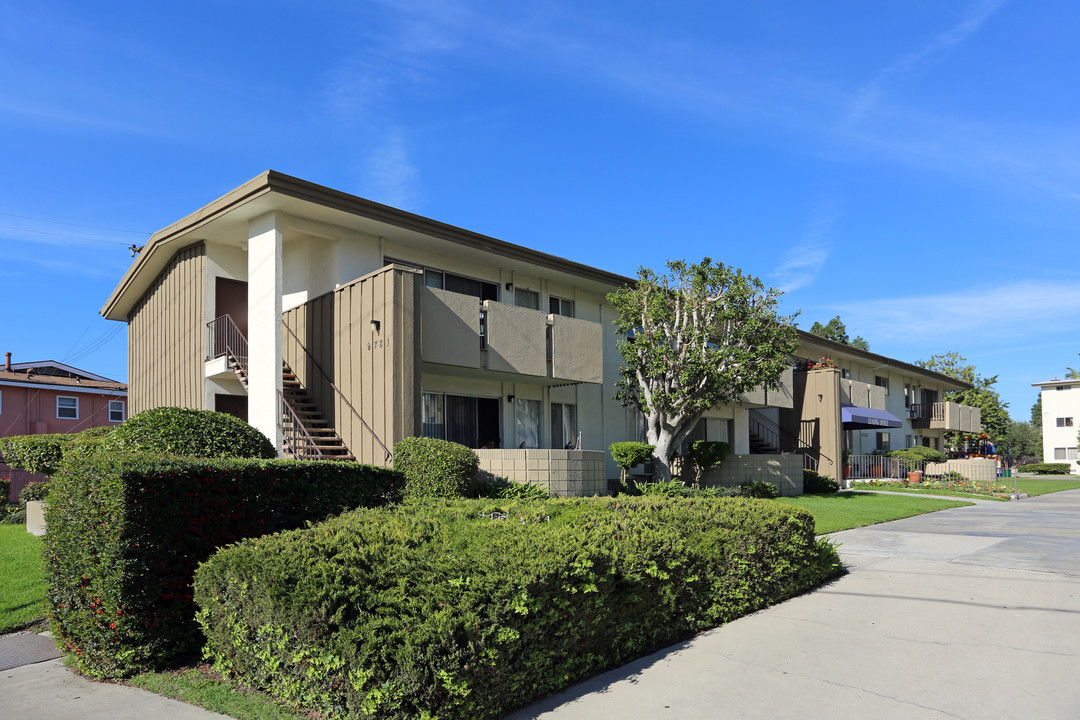
[[0, 634], [24, 628], [45, 616], [41, 538], [25, 525], [0, 525]]

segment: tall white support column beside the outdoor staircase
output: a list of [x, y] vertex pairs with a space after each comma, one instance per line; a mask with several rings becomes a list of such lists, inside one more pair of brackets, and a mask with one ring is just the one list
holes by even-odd
[[247, 422], [281, 453], [282, 219], [247, 223]]

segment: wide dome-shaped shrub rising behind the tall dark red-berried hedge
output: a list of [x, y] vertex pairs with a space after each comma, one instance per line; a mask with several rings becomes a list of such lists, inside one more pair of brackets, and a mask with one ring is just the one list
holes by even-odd
[[267, 436], [226, 412], [160, 407], [134, 415], [100, 438], [102, 450], [191, 458], [275, 458]]

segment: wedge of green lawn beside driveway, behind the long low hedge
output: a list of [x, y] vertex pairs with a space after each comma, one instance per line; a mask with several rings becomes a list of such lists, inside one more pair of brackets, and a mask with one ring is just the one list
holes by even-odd
[[823, 495], [797, 495], [778, 498], [777, 502], [795, 505], [810, 511], [814, 517], [818, 534], [850, 530], [902, 517], [933, 513], [947, 507], [960, 507], [972, 503], [933, 498], [907, 498], [903, 495], [870, 494], [861, 492], [836, 492]]

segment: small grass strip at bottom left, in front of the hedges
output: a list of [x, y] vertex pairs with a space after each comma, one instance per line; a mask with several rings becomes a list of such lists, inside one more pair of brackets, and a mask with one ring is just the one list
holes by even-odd
[[210, 666], [173, 673], [144, 673], [127, 680], [127, 684], [238, 720], [309, 720], [311, 717], [294, 712], [260, 692], [226, 680]]

